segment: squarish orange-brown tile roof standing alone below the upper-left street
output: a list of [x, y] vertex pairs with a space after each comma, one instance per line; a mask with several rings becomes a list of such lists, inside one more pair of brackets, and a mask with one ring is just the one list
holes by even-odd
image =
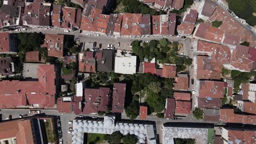
[[48, 56], [63, 57], [64, 35], [45, 34], [44, 44], [41, 47], [48, 49]]

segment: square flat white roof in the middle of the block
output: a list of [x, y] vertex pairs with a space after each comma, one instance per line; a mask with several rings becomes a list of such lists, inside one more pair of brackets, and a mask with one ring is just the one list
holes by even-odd
[[130, 53], [115, 54], [115, 73], [119, 74], [135, 74], [137, 65], [137, 56], [132, 56]]

